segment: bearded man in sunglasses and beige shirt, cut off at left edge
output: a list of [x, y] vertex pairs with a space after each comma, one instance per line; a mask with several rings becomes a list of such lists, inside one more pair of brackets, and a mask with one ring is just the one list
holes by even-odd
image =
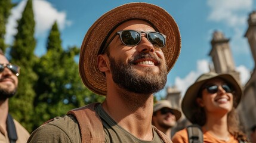
[[[23, 143], [29, 138], [29, 132], [8, 113], [8, 101], [16, 94], [19, 74], [20, 67], [10, 64], [0, 49], [0, 142]], [[12, 125], [15, 129], [10, 128]]]

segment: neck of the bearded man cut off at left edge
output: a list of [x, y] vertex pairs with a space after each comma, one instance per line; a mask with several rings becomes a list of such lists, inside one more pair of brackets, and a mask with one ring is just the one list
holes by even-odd
[[0, 126], [7, 131], [7, 126], [6, 126], [6, 120], [7, 120], [7, 115], [8, 115], [8, 99], [5, 101], [0, 101]]

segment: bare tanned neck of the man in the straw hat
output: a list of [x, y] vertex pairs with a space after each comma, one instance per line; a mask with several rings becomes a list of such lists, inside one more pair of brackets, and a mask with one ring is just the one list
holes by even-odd
[[[111, 94], [109, 94], [111, 93]], [[103, 102], [104, 110], [122, 126], [137, 138], [151, 141], [153, 94], [141, 95], [125, 92], [110, 92]]]

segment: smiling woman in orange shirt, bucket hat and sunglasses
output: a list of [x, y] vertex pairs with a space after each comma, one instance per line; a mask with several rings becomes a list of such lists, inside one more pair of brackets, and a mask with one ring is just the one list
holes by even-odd
[[[201, 126], [203, 142], [246, 142], [235, 111], [242, 89], [230, 74], [205, 73], [187, 89], [182, 110], [187, 119]], [[173, 142], [189, 142], [187, 129], [175, 133]], [[199, 138], [198, 138], [199, 139]]]

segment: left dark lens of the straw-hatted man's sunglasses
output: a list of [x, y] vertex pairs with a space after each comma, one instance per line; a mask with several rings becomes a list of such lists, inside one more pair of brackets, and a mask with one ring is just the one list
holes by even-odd
[[125, 45], [134, 46], [140, 42], [140, 33], [132, 30], [123, 31], [121, 39]]

